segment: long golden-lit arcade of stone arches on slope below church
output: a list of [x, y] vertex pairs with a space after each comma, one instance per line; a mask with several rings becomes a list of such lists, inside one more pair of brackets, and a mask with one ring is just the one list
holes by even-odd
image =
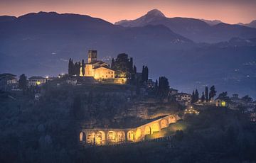
[[[78, 135], [82, 145], [114, 145], [125, 142], [139, 142], [145, 140], [146, 135], [168, 128], [180, 118], [176, 115], [164, 116], [137, 128], [94, 128], [82, 129]], [[156, 137], [157, 138], [157, 137]]]

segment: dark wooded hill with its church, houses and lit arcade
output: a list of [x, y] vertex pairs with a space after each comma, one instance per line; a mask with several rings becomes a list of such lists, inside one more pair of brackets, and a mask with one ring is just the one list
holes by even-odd
[[[138, 72], [133, 58], [125, 53], [110, 64], [98, 60], [97, 55], [96, 50], [89, 50], [87, 62], [70, 58], [68, 73], [57, 77], [21, 74], [18, 79], [14, 74], [0, 74], [1, 144], [6, 147], [11, 135], [21, 141], [13, 142], [15, 145], [26, 149], [16, 160], [33, 159], [32, 149], [36, 155], [48, 150], [49, 159], [60, 154], [55, 160], [72, 159], [77, 154], [89, 157], [101, 150], [112, 155], [104, 147], [116, 145], [113, 150], [119, 152], [138, 147], [146, 152], [172, 149], [180, 153], [188, 150], [186, 145], [201, 151], [196, 137], [206, 142], [225, 137], [228, 144], [224, 148], [231, 150], [233, 134], [254, 131], [243, 128], [256, 122], [256, 103], [250, 96], [230, 97], [214, 85], [200, 90], [202, 94], [197, 89], [179, 92], [166, 77], [149, 79], [146, 65]], [[243, 143], [250, 137], [236, 135], [235, 139]], [[217, 144], [221, 143], [218, 140]], [[70, 154], [78, 149], [81, 151]], [[16, 150], [7, 147], [5, 152], [11, 155]], [[100, 153], [102, 157], [105, 152]]]

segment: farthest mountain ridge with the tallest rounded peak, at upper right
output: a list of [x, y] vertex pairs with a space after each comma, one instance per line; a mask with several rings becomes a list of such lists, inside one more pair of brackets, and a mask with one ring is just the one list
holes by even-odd
[[[146, 25], [164, 25], [170, 28], [174, 33], [183, 35], [198, 43], [218, 43], [228, 41], [230, 38], [255, 38], [256, 29], [239, 25], [230, 25], [218, 21], [201, 21], [196, 18], [166, 18], [161, 11], [154, 9], [153, 13], [157, 16], [146, 13], [144, 16], [131, 21], [118, 21], [115, 25], [124, 27], [136, 27]], [[208, 23], [206, 23], [208, 22]], [[212, 25], [209, 25], [211, 23]]]

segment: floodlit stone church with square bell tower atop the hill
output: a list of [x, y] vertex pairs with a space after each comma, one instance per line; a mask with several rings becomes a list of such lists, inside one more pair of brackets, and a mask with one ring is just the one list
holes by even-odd
[[[85, 69], [85, 75], [82, 75], [82, 68]], [[89, 50], [88, 62], [85, 67], [80, 68], [81, 77], [94, 77], [95, 79], [114, 79], [114, 70], [110, 65], [101, 60], [97, 60], [97, 50]]]

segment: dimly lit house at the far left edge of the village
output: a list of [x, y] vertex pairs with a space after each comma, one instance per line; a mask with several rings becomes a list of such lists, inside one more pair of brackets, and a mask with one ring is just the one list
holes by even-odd
[[18, 88], [18, 80], [14, 74], [0, 74], [0, 89], [7, 91]]

